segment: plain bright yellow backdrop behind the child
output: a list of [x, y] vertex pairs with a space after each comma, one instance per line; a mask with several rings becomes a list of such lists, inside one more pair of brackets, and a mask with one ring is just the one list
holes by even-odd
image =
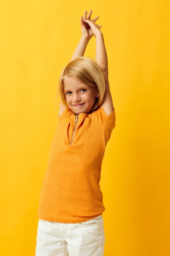
[[[99, 15], [116, 128], [102, 163], [105, 256], [170, 255], [168, 1], [0, 3], [0, 254], [34, 256], [59, 74]], [[85, 55], [95, 57], [95, 38]]]

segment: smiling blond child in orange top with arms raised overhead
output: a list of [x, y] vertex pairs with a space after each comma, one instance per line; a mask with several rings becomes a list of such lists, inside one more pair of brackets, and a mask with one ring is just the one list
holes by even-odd
[[[100, 26], [87, 11], [82, 38], [60, 75], [59, 119], [42, 184], [36, 256], [103, 256], [105, 146], [115, 127], [108, 60]], [[83, 57], [96, 38], [96, 61]]]

